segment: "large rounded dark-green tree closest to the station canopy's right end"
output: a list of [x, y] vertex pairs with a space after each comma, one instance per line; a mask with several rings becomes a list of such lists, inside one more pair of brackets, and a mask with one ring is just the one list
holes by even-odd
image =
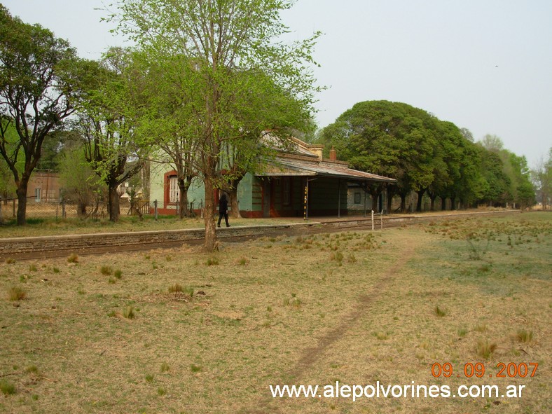
[[[436, 125], [433, 116], [408, 104], [367, 101], [345, 111], [320, 138], [352, 167], [396, 179], [392, 191], [401, 196], [404, 212], [406, 195], [417, 191], [421, 200], [439, 170]], [[373, 205], [381, 191], [372, 186]]]

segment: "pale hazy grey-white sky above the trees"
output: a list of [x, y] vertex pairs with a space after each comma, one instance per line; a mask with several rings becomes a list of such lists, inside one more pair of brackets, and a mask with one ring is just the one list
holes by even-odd
[[[113, 1], [0, 2], [82, 57], [123, 43], [95, 10]], [[298, 0], [283, 17], [292, 39], [324, 33], [319, 127], [357, 102], [386, 99], [467, 127], [476, 140], [496, 134], [530, 166], [552, 146], [550, 0]]]

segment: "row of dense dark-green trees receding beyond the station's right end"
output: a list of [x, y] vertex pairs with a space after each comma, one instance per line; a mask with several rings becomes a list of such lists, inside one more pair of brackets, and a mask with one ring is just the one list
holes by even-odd
[[[447, 199], [453, 209], [457, 202], [464, 207], [534, 203], [525, 157], [504, 149], [495, 136], [475, 143], [469, 130], [408, 104], [359, 102], [320, 131], [318, 140], [326, 149], [333, 146], [354, 168], [395, 178], [388, 209], [392, 196], [399, 195], [405, 211], [406, 196], [412, 191], [418, 194], [418, 211], [425, 194], [432, 210], [437, 198], [442, 209]], [[382, 190], [382, 186], [368, 188], [374, 202]]]

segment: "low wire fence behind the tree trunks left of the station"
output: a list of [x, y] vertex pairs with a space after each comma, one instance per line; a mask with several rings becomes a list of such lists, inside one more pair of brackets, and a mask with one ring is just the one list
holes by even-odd
[[[17, 198], [0, 200], [0, 222], [14, 220], [18, 214], [19, 202]], [[146, 215], [153, 213], [149, 200], [137, 200], [134, 205], [128, 198], [119, 200], [120, 214]], [[106, 202], [97, 202], [95, 205], [83, 206], [74, 200], [52, 202], [37, 201], [34, 197], [27, 198], [27, 219], [67, 219], [76, 217], [90, 217], [92, 219], [109, 218]]]

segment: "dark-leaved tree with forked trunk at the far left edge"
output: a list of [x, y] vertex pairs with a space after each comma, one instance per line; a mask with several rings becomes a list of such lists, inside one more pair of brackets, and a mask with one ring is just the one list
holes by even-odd
[[[79, 62], [67, 41], [12, 18], [0, 4], [0, 154], [17, 187], [18, 226], [26, 223], [27, 186], [43, 142], [74, 112]], [[11, 127], [18, 134], [15, 142]]]

